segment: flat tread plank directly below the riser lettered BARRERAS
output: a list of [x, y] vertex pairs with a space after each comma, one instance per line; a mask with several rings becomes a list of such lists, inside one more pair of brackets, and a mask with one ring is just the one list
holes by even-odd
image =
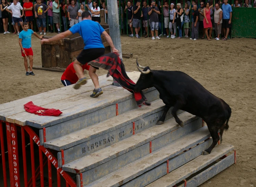
[[[185, 112], [180, 115], [180, 119], [183, 120], [184, 124], [189, 124], [198, 119], [198, 117]], [[149, 143], [150, 141], [157, 139], [158, 137], [171, 133], [178, 128], [180, 128], [180, 126], [175, 122], [175, 120], [170, 119], [166, 121], [166, 123], [164, 123], [163, 125], [155, 125], [145, 131], [142, 131], [141, 133], [135, 134], [129, 138], [124, 139], [121, 142], [115, 143], [114, 146], [106, 147], [97, 152], [90, 153], [90, 155], [82, 157], [79, 160], [63, 165], [63, 170], [80, 173], [90, 170], [100, 164], [108, 162], [111, 159], [121, 156], [126, 152], [129, 152], [143, 144]], [[168, 142], [168, 139], [166, 139], [166, 141]]]

